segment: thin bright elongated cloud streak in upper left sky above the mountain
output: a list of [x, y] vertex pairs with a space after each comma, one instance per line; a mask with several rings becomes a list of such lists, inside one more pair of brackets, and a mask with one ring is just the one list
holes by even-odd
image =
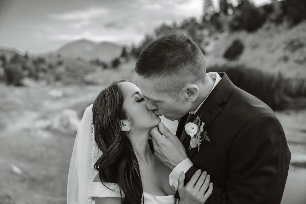
[[50, 14], [49, 18], [57, 20], [89, 20], [97, 17], [104, 16], [108, 13], [105, 8], [91, 8], [86, 10], [76, 10], [62, 14]]

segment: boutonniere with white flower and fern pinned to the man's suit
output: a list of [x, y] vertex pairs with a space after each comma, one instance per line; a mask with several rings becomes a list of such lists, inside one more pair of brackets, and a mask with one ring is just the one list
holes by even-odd
[[207, 131], [204, 131], [205, 123], [201, 123], [200, 116], [197, 116], [193, 122], [189, 122], [185, 125], [185, 131], [187, 132], [187, 135], [191, 137], [188, 150], [191, 150], [191, 148], [198, 147], [199, 152], [200, 145], [203, 140], [210, 142], [209, 136], [207, 135]]

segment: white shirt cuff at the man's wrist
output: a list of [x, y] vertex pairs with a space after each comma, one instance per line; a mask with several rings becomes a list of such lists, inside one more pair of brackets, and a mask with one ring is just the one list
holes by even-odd
[[169, 184], [173, 188], [173, 190], [177, 190], [178, 186], [178, 177], [180, 177], [181, 172], [183, 171], [186, 173], [190, 167], [192, 167], [192, 162], [190, 161], [189, 158], [181, 161], [170, 173], [169, 175]]

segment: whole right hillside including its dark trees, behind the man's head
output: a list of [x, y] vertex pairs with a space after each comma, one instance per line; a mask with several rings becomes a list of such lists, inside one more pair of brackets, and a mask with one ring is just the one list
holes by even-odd
[[[162, 24], [132, 50], [136, 57], [154, 39], [169, 34], [186, 35], [203, 51], [207, 67], [244, 66], [285, 77], [306, 77], [306, 2], [273, 1], [259, 8], [241, 1], [233, 14], [214, 13], [171, 25]], [[230, 56], [226, 51], [234, 41]], [[241, 49], [241, 50], [239, 50]]]

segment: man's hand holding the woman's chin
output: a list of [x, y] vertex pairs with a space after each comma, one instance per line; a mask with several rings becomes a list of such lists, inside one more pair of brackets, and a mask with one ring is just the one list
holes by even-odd
[[188, 158], [181, 141], [162, 122], [158, 124], [158, 127], [151, 129], [150, 134], [155, 156], [171, 170]]

